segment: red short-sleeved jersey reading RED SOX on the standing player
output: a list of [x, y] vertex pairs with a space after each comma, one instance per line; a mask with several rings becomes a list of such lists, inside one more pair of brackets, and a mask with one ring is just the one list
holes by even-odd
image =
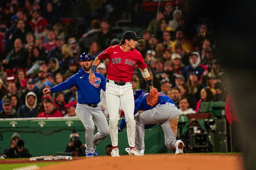
[[100, 60], [109, 58], [107, 78], [114, 81], [132, 81], [135, 64], [142, 70], [148, 67], [139, 51], [132, 49], [124, 52], [120, 44], [105, 49], [98, 58]]

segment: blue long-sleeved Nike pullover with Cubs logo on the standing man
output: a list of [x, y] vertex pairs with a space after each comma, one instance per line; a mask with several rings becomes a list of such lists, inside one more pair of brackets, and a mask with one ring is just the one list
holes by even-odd
[[106, 78], [95, 72], [96, 82], [93, 85], [89, 83], [89, 73], [82, 68], [63, 83], [50, 88], [51, 93], [61, 92], [76, 86], [77, 102], [87, 104], [98, 104], [100, 102], [100, 89], [106, 91]]

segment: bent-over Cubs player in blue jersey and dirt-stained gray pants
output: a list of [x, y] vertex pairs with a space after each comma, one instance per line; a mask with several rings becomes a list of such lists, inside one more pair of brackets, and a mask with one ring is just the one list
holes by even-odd
[[[135, 117], [136, 121], [136, 149], [141, 155], [144, 155], [145, 144], [144, 136], [145, 126], [154, 126], [160, 124], [164, 130], [165, 146], [168, 149], [176, 149], [176, 154], [183, 154], [184, 144], [181, 140], [176, 140], [177, 125], [179, 121], [179, 110], [175, 103], [167, 95], [158, 92], [159, 101], [155, 106], [151, 107], [147, 103], [148, 93], [139, 89], [134, 92], [135, 108], [134, 115], [138, 111], [142, 111]], [[126, 126], [125, 117], [123, 117], [118, 131], [122, 131]], [[125, 151], [129, 153], [130, 148]]]

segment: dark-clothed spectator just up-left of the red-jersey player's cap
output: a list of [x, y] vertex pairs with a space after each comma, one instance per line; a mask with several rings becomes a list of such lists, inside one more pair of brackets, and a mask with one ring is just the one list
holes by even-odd
[[[102, 50], [107, 49], [109, 47], [110, 41], [115, 38], [113, 35], [113, 31], [111, 30], [110, 23], [106, 19], [102, 19], [100, 22], [101, 32], [99, 34], [100, 37], [100, 47]], [[90, 53], [92, 56], [92, 54]]]

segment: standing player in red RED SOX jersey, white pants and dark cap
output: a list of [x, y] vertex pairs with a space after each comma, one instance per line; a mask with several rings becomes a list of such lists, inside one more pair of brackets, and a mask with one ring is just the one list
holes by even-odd
[[135, 49], [138, 39], [141, 38], [137, 37], [134, 31], [125, 32], [119, 45], [110, 46], [96, 57], [89, 76], [89, 82], [92, 84], [93, 80], [95, 81], [94, 71], [102, 60], [109, 58], [106, 103], [109, 113], [109, 133], [113, 147], [111, 155], [113, 157], [119, 157], [117, 127], [120, 103], [123, 107], [125, 120], [127, 122], [127, 137], [130, 146], [130, 155], [140, 156], [140, 153], [135, 148], [135, 121], [133, 117], [134, 98], [131, 84], [135, 64], [140, 68], [150, 91], [155, 89], [147, 70], [147, 64], [140, 52]]

